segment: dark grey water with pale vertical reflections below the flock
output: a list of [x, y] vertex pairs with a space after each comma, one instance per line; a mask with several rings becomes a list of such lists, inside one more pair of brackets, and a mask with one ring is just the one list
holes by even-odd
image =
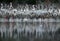
[[0, 22], [0, 41], [60, 41], [60, 22]]

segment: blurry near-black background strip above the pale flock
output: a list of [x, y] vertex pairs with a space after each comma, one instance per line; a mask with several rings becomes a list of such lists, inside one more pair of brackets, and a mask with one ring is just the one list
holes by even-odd
[[37, 4], [41, 2], [60, 3], [60, 0], [0, 0], [0, 3], [20, 3], [20, 4]]

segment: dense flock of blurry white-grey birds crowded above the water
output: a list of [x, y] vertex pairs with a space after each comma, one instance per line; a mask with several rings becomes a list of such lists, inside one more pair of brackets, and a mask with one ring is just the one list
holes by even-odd
[[12, 3], [10, 5], [3, 5], [1, 3], [0, 15], [45, 15], [45, 14], [60, 15], [60, 9], [54, 5], [44, 6], [43, 4], [38, 5], [18, 5], [16, 8], [13, 7]]

